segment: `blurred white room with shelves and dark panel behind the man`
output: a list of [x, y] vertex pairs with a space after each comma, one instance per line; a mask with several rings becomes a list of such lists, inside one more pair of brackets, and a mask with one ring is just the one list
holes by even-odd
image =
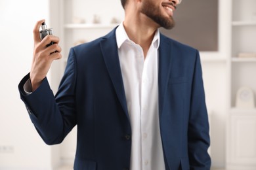
[[[165, 35], [200, 50], [210, 122], [212, 169], [256, 169], [256, 1], [183, 0]], [[76, 129], [62, 144], [43, 143], [20, 100], [29, 73], [33, 27], [45, 19], [63, 58], [47, 75], [56, 93], [70, 47], [119, 25], [119, 0], [0, 0], [0, 170], [72, 169]]]

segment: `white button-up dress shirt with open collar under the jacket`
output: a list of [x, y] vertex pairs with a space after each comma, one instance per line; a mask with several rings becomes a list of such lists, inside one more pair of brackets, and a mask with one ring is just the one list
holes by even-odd
[[123, 24], [116, 29], [116, 41], [132, 129], [130, 170], [165, 169], [158, 114], [160, 32], [156, 31], [146, 58]]

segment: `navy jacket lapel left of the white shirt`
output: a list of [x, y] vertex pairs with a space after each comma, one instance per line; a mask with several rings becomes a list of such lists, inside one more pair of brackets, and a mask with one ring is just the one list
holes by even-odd
[[103, 38], [103, 40], [100, 42], [100, 48], [106, 63], [106, 68], [108, 69], [108, 73], [116, 90], [117, 97], [129, 120], [123, 78], [121, 75], [121, 67], [117, 51], [116, 29], [111, 31], [108, 35], [106, 35], [106, 37]]

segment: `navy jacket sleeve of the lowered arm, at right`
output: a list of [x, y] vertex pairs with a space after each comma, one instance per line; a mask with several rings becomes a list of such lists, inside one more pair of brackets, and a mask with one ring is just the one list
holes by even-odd
[[190, 169], [210, 169], [211, 158], [207, 152], [209, 144], [209, 122], [205, 105], [202, 67], [197, 51], [192, 79], [190, 117], [188, 122], [188, 156]]

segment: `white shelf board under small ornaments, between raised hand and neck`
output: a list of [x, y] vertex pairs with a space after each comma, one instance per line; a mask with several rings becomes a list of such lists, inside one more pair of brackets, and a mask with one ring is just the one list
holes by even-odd
[[114, 28], [119, 24], [66, 24], [67, 29], [106, 29]]

